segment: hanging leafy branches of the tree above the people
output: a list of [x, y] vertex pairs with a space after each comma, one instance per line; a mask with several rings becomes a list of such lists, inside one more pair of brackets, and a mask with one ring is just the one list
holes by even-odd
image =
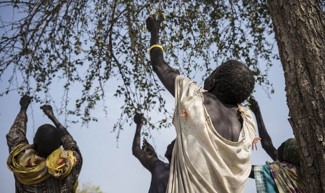
[[[272, 87], [267, 70], [277, 55], [266, 39], [273, 36], [266, 1], [30, 0], [0, 6], [12, 7], [21, 16], [1, 25], [0, 78], [12, 73], [2, 94], [18, 90], [45, 103], [51, 98], [40, 93], [49, 93], [54, 80], [64, 81], [60, 112], [78, 116], [83, 123], [96, 121], [91, 110], [105, 99], [107, 81], [115, 79], [115, 96], [125, 103], [114, 131], [119, 133], [140, 111], [163, 114], [156, 124], [147, 114], [150, 128], [168, 126], [170, 116], [161, 95], [165, 89], [152, 72], [147, 53], [145, 19], [150, 14], [164, 15], [160, 41], [165, 58], [182, 74], [206, 76], [233, 58], [246, 63], [258, 84]], [[70, 102], [69, 91], [78, 83], [83, 87], [81, 96]], [[67, 108], [70, 103], [75, 103], [74, 109]]]

